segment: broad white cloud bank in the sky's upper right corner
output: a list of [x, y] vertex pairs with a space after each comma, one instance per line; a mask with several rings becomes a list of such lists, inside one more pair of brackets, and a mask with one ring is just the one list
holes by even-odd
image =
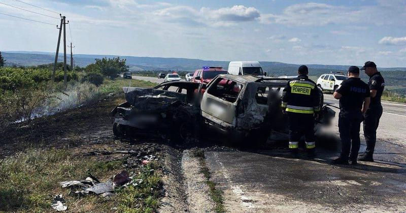
[[[320, 3], [295, 4], [286, 7], [281, 14], [261, 14], [264, 24], [294, 26], [323, 26], [328, 24], [406, 25], [405, 1], [378, 1], [377, 5], [345, 7]], [[341, 33], [341, 32], [334, 32]]]

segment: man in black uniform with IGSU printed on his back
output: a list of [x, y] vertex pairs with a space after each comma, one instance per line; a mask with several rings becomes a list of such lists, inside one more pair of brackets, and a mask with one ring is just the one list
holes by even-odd
[[[348, 69], [348, 79], [334, 92], [335, 99], [340, 99], [339, 131], [342, 143], [340, 158], [333, 164], [357, 164], [358, 151], [361, 144], [359, 129], [363, 114], [369, 106], [369, 87], [359, 78], [359, 68], [351, 66]], [[351, 149], [351, 154], [350, 154]]]

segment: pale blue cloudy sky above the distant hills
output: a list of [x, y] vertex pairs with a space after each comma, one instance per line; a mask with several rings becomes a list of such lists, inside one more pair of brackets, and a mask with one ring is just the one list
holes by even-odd
[[22, 2], [66, 16], [74, 54], [406, 67], [406, 0], [0, 0], [0, 51], [56, 50], [59, 15]]

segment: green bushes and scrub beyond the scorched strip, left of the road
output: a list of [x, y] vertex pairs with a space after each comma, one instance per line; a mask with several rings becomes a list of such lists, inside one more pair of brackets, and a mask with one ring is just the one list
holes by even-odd
[[0, 130], [15, 121], [29, 121], [42, 115], [97, 102], [120, 93], [122, 86], [151, 87], [140, 80], [117, 79], [128, 71], [125, 59], [96, 59], [85, 68], [67, 67], [63, 83], [63, 64], [58, 63], [52, 81], [53, 64], [31, 67], [0, 67]]

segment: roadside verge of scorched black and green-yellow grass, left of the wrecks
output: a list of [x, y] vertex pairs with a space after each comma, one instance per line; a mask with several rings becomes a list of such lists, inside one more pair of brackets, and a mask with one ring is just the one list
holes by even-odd
[[[0, 211], [54, 211], [53, 196], [62, 194], [69, 211], [155, 212], [161, 197], [160, 159], [165, 145], [115, 138], [110, 111], [122, 102], [124, 94], [108, 96], [95, 104], [0, 130]], [[158, 160], [124, 167], [131, 155], [114, 153], [118, 149], [147, 150]], [[139, 174], [136, 178], [144, 181], [138, 187], [118, 190], [110, 200], [96, 195], [78, 197], [58, 184], [84, 179], [88, 173], [105, 181], [121, 170]]]

